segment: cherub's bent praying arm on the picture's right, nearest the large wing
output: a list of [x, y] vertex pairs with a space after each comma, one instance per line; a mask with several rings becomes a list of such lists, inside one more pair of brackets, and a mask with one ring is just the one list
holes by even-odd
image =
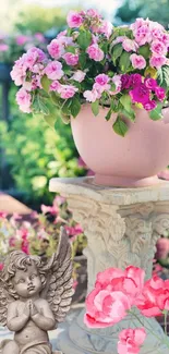
[[35, 305], [33, 305], [33, 308], [31, 310], [32, 320], [44, 331], [50, 331], [55, 329], [56, 320], [48, 302], [46, 300], [41, 300], [40, 307], [43, 308], [43, 314], [39, 314]]

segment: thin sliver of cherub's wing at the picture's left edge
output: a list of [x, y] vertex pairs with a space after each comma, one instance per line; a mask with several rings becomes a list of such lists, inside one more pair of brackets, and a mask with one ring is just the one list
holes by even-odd
[[9, 305], [9, 296], [4, 290], [4, 284], [0, 279], [0, 326], [7, 326], [7, 314]]

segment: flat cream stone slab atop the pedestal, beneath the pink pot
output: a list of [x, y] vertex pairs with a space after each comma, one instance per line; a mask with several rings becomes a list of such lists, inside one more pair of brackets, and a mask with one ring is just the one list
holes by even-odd
[[169, 200], [169, 181], [146, 187], [118, 188], [94, 184], [94, 178], [51, 179], [49, 191], [62, 195], [79, 195], [99, 203], [128, 206], [146, 202]]

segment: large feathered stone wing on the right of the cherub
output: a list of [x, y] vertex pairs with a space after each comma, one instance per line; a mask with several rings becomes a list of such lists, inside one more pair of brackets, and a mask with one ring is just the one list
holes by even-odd
[[61, 228], [57, 253], [45, 267], [47, 272], [46, 300], [55, 315], [56, 321], [61, 322], [70, 309], [74, 290], [72, 288], [73, 264], [69, 237]]

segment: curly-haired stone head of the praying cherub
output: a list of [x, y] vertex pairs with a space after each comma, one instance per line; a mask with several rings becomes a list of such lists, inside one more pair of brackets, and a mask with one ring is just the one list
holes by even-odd
[[13, 298], [32, 298], [40, 295], [46, 277], [39, 257], [13, 251], [8, 256], [1, 272], [1, 280]]

